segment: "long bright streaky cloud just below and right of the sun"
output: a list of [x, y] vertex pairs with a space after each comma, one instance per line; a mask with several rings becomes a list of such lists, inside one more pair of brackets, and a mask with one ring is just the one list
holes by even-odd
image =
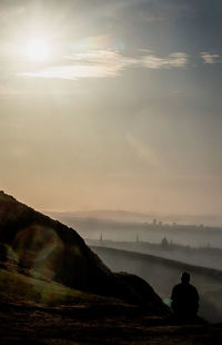
[[93, 50], [68, 55], [60, 66], [49, 66], [42, 70], [20, 72], [19, 76], [69, 80], [110, 78], [120, 76], [127, 67], [150, 69], [182, 68], [188, 63], [188, 57], [184, 52], [173, 52], [167, 58], [159, 58], [154, 55], [130, 58], [119, 51]]

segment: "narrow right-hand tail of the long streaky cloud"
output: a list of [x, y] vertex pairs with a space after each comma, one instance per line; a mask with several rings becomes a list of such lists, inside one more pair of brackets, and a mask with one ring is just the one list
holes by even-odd
[[173, 52], [167, 58], [159, 58], [154, 55], [149, 55], [142, 58], [144, 67], [150, 69], [171, 69], [185, 67], [189, 56], [184, 52]]

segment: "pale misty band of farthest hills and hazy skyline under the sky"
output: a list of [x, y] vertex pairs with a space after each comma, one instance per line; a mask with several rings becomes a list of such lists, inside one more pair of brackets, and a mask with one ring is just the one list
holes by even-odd
[[[109, 214], [110, 217], [111, 214]], [[184, 246], [211, 246], [222, 248], [222, 228], [220, 227], [206, 227], [200, 224], [167, 224], [159, 223], [158, 219], [149, 223], [141, 221], [142, 218], [138, 218], [134, 223], [130, 220], [123, 221], [123, 218], [121, 218], [121, 220], [118, 220], [117, 218], [113, 218], [115, 220], [109, 220], [105, 218], [109, 215], [107, 213], [101, 213], [101, 218], [97, 218], [99, 217], [99, 214], [97, 213], [50, 214], [50, 216], [56, 217], [63, 224], [78, 229], [79, 234], [85, 239], [97, 240], [102, 236], [105, 240], [137, 241], [137, 238], [139, 238], [141, 241], [160, 244], [162, 239], [167, 237], [169, 241]], [[120, 215], [122, 214], [120, 213]], [[128, 213], [124, 215], [127, 219]], [[113, 216], [118, 216], [118, 214], [114, 214]]]

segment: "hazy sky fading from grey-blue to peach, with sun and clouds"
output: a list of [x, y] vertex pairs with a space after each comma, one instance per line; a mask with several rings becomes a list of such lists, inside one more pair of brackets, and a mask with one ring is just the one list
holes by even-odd
[[1, 189], [222, 216], [220, 0], [1, 0], [0, 26]]

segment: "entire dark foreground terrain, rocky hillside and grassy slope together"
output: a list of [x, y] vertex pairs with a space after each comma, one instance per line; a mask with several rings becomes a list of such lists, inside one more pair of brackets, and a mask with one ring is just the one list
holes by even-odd
[[1, 344], [220, 344], [220, 325], [196, 322], [180, 325], [145, 280], [0, 193]]

